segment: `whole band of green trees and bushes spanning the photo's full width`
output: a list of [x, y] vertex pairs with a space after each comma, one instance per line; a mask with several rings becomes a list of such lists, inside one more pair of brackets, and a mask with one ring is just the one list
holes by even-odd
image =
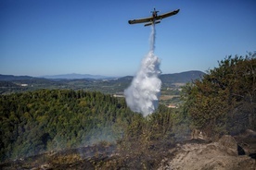
[[99, 91], [37, 90], [0, 95], [0, 160], [114, 143], [136, 160], [186, 140], [192, 129], [211, 140], [256, 130], [256, 55], [228, 56], [183, 87], [178, 109], [160, 105], [143, 117], [124, 98]]

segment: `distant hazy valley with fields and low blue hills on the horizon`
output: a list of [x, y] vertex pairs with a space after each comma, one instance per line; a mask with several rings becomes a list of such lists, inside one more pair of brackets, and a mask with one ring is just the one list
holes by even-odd
[[[166, 106], [178, 107], [180, 103], [181, 88], [195, 79], [200, 79], [204, 75], [201, 71], [186, 71], [174, 74], [162, 74], [160, 79], [161, 97], [160, 103]], [[72, 76], [72, 77], [71, 77]], [[123, 96], [123, 91], [131, 84], [133, 77], [122, 78], [93, 77], [90, 75], [84, 78], [81, 75], [67, 75], [33, 78], [27, 76], [15, 77], [0, 75], [0, 93], [9, 94], [20, 91], [36, 91], [40, 89], [70, 89], [83, 91], [100, 91], [114, 96]], [[78, 79], [83, 78], [83, 79]], [[92, 79], [96, 78], [96, 79]]]

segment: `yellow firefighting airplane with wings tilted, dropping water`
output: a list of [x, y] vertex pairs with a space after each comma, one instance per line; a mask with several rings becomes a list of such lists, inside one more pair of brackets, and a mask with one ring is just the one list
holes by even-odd
[[149, 26], [149, 25], [152, 25], [152, 24], [159, 24], [160, 20], [162, 18], [168, 18], [168, 17], [171, 17], [173, 15], [176, 15], [179, 11], [180, 11], [180, 9], [177, 9], [177, 10], [173, 10], [172, 12], [168, 12], [168, 13], [165, 13], [165, 14], [162, 14], [162, 15], [158, 15], [158, 12], [160, 12], [160, 11], [157, 11], [156, 8], [154, 8], [154, 11], [151, 11], [152, 17], [128, 20], [128, 23], [129, 24], [137, 24], [137, 23], [147, 22], [144, 26]]

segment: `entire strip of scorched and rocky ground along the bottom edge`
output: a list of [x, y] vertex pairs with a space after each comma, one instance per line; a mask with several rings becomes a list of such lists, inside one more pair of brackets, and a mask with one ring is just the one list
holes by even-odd
[[153, 152], [156, 154], [123, 156], [114, 145], [96, 145], [45, 152], [2, 163], [0, 169], [256, 170], [256, 133], [247, 130], [239, 136], [223, 136], [216, 142], [186, 140]]

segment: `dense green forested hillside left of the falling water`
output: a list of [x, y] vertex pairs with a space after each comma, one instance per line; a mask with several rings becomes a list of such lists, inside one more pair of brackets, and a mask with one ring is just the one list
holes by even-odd
[[0, 96], [1, 160], [122, 137], [134, 113], [100, 92], [41, 90]]

